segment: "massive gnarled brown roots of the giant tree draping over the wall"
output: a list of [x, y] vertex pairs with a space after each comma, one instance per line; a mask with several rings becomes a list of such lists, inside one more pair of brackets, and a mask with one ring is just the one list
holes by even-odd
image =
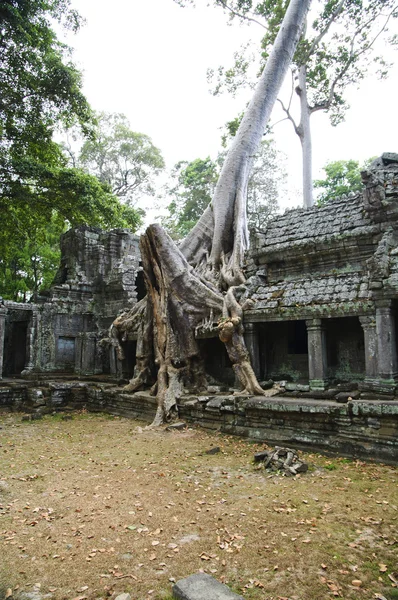
[[158, 403], [154, 424], [173, 417], [185, 390], [206, 389], [195, 333], [204, 327], [216, 329], [217, 323], [242, 389], [262, 394], [243, 338], [242, 308], [235, 298], [242, 289], [231, 288], [224, 295], [204, 281], [159, 225], [151, 225], [141, 237], [141, 255], [147, 296], [119, 316], [112, 330], [128, 339], [138, 329], [136, 372], [126, 391], [150, 387], [157, 371], [152, 385]]

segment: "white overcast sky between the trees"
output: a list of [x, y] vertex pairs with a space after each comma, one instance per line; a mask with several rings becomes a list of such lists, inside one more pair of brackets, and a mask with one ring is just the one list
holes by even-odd
[[[122, 112], [131, 128], [149, 135], [167, 166], [220, 149], [221, 128], [244, 107], [247, 97], [213, 97], [206, 70], [232, 64], [233, 51], [262, 34], [256, 25], [228, 26], [226, 15], [207, 0], [181, 8], [173, 0], [73, 0], [86, 25], [68, 39], [84, 74], [84, 92], [97, 111]], [[398, 63], [398, 53], [390, 52]], [[385, 81], [365, 79], [347, 90], [351, 105], [345, 123], [329, 125], [312, 117], [314, 177], [329, 160], [365, 160], [398, 152], [398, 65]], [[274, 115], [271, 120], [277, 120]], [[300, 144], [290, 123], [275, 129], [278, 148], [287, 155], [289, 198], [299, 203]]]

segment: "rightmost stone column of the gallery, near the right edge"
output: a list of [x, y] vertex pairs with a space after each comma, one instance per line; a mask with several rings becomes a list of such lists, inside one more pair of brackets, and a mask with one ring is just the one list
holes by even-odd
[[391, 306], [376, 307], [377, 371], [384, 384], [395, 386], [397, 347], [395, 318]]

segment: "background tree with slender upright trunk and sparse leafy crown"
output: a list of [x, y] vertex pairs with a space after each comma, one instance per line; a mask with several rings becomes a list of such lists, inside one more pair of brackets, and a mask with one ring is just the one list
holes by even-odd
[[[184, 0], [176, 0], [180, 4]], [[288, 5], [287, 0], [214, 0], [231, 19], [248, 21], [265, 28], [261, 50], [254, 62], [267, 59]], [[292, 88], [288, 101], [281, 107], [299, 137], [303, 157], [303, 202], [314, 202], [312, 187], [311, 116], [326, 112], [332, 125], [340, 123], [348, 109], [346, 88], [358, 84], [371, 71], [385, 77], [389, 64], [378, 42], [395, 44], [389, 26], [398, 16], [396, 0], [317, 0], [292, 61]], [[223, 88], [236, 92], [251, 85], [253, 55], [237, 51], [232, 68], [220, 67], [214, 93]], [[210, 77], [214, 72], [210, 72]], [[298, 101], [298, 117], [294, 106]]]

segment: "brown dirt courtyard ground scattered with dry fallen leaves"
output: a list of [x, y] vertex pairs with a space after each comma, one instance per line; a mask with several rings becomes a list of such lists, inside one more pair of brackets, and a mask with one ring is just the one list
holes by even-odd
[[166, 600], [198, 571], [253, 599], [398, 598], [397, 469], [300, 453], [310, 469], [289, 478], [253, 463], [262, 449], [0, 416], [0, 598]]

